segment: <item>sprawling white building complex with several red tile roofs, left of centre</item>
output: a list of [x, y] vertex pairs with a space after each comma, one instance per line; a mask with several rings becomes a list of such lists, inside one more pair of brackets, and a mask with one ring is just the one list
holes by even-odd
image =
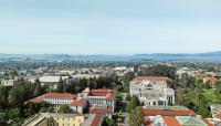
[[46, 102], [53, 107], [70, 105], [70, 107], [80, 114], [91, 106], [92, 114], [106, 114], [108, 117], [114, 113], [116, 104], [116, 94], [112, 90], [90, 90], [86, 88], [77, 95], [71, 93], [48, 93], [29, 102]]

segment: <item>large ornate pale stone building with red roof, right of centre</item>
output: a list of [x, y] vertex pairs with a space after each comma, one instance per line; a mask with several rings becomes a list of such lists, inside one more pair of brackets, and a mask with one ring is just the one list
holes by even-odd
[[171, 81], [168, 77], [138, 76], [129, 84], [130, 95], [148, 106], [173, 105], [175, 91], [167, 85]]

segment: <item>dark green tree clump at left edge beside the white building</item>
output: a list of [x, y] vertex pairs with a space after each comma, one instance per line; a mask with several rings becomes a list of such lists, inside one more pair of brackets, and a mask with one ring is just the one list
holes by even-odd
[[46, 103], [27, 103], [30, 98], [40, 96], [45, 93], [45, 88], [41, 87], [36, 81], [34, 84], [25, 82], [21, 78], [13, 87], [0, 87], [0, 115], [2, 119], [11, 119], [10, 125], [21, 126], [23, 119], [41, 108], [48, 109]]

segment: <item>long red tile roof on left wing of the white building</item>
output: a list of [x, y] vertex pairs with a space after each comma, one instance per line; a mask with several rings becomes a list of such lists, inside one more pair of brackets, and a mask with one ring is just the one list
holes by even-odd
[[75, 98], [75, 94], [71, 93], [48, 93], [44, 95], [46, 98]]

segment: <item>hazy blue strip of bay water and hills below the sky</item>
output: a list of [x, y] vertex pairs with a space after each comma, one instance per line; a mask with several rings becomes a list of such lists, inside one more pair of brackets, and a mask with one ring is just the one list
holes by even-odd
[[3, 54], [0, 53], [0, 61], [23, 61], [25, 57], [32, 57], [35, 61], [202, 61], [221, 62], [221, 51], [207, 53], [154, 53], [135, 55], [70, 55], [70, 54]]

